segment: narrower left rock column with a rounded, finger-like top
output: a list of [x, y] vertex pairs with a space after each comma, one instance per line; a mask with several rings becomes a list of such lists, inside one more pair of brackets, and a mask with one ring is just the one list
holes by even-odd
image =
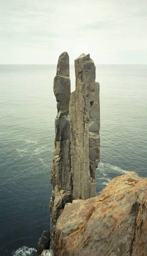
[[57, 218], [65, 204], [72, 201], [73, 189], [69, 120], [71, 81], [69, 78], [69, 56], [67, 52], [63, 52], [59, 56], [57, 74], [54, 78], [54, 95], [57, 100], [58, 113], [55, 119], [55, 150], [51, 166], [51, 246], [54, 243], [54, 230]]

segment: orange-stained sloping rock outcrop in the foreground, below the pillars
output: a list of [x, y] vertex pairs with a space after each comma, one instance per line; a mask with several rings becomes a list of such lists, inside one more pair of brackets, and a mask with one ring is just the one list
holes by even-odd
[[102, 193], [65, 206], [55, 256], [147, 256], [147, 180], [116, 177]]

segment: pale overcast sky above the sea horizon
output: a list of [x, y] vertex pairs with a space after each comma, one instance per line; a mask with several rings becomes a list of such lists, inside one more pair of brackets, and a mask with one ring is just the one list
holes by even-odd
[[0, 0], [0, 63], [147, 64], [147, 0]]

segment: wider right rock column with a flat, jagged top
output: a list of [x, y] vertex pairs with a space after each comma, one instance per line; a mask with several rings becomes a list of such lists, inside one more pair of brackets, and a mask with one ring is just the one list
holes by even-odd
[[95, 195], [95, 171], [99, 163], [99, 83], [96, 67], [84, 53], [75, 60], [76, 89], [70, 98], [71, 172], [73, 198]]

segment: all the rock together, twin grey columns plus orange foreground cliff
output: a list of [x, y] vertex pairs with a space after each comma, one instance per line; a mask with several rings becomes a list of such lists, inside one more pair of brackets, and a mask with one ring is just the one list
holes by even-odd
[[135, 172], [116, 177], [95, 196], [99, 163], [99, 83], [89, 54], [75, 60], [71, 93], [69, 57], [59, 56], [51, 166], [51, 250], [54, 256], [147, 256], [147, 180]]

